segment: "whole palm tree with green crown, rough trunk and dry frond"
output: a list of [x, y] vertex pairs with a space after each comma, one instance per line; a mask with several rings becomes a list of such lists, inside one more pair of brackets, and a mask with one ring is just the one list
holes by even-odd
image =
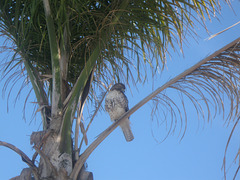
[[[36, 150], [32, 160], [16, 147], [0, 142], [19, 153], [29, 165], [27, 173], [21, 176], [92, 178], [92, 174], [84, 170], [84, 163], [122, 119], [151, 99], [166, 102], [165, 106], [172, 109], [174, 102], [161, 94], [167, 87], [185, 94], [200, 113], [201, 106], [186, 88], [202, 97], [207, 107], [209, 102], [202, 89], [219, 108], [223, 108], [219, 90], [226, 92], [232, 103], [238, 104], [237, 62], [215, 60], [215, 56], [211, 56], [157, 89], [79, 154], [83, 141], [88, 144], [87, 130], [104, 99], [104, 94], [97, 99], [96, 91], [107, 91], [120, 79], [126, 84], [144, 82], [147, 76], [142, 71], [144, 66], [149, 66], [153, 74], [162, 70], [168, 46], [181, 47], [185, 36], [194, 33], [197, 19], [193, 15], [197, 14], [199, 23], [204, 24], [205, 16], [210, 18], [219, 7], [217, 0], [1, 1], [1, 34], [10, 40], [7, 45], [11, 43], [9, 48], [14, 50], [2, 71], [10, 74], [7, 81], [23, 76], [24, 83], [31, 83], [42, 117], [43, 131], [31, 136]], [[137, 77], [133, 76], [134, 71]], [[85, 128], [81, 117], [86, 101], [98, 103]], [[237, 115], [238, 108], [232, 107], [229, 119]], [[79, 128], [83, 137], [80, 146]], [[37, 155], [40, 156], [38, 167]]]

